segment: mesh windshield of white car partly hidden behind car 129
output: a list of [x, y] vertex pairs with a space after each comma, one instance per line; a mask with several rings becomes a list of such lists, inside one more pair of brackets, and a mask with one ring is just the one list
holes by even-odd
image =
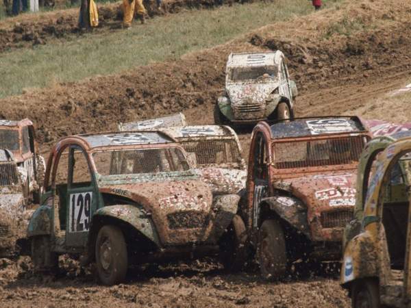
[[[197, 166], [241, 166], [241, 154], [235, 140], [180, 141], [187, 153], [195, 154]], [[234, 166], [233, 166], [234, 165]]]

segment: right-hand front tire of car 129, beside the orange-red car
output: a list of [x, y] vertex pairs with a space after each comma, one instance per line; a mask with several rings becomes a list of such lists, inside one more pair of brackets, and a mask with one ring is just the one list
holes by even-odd
[[221, 243], [221, 263], [226, 270], [238, 271], [247, 263], [247, 229], [241, 217], [235, 215]]

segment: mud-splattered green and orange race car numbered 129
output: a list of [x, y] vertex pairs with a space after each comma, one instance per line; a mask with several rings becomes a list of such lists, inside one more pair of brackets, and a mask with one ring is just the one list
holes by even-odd
[[95, 261], [112, 285], [130, 264], [196, 255], [220, 255], [232, 268], [244, 262], [239, 196], [213, 196], [166, 133], [63, 138], [49, 155], [44, 188], [28, 228], [38, 270], [70, 253]]

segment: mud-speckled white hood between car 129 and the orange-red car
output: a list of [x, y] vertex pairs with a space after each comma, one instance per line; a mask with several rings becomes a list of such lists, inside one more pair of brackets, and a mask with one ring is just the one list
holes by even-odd
[[237, 194], [245, 188], [247, 180], [247, 172], [240, 169], [201, 168], [199, 175], [210, 185], [213, 194]]

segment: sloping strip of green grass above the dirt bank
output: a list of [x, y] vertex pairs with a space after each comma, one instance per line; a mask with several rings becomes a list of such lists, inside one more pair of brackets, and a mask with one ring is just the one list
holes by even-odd
[[263, 25], [312, 11], [307, 0], [192, 10], [153, 18], [146, 25], [135, 22], [129, 30], [86, 34], [34, 49], [6, 52], [0, 56], [0, 75], [3, 76], [0, 97], [20, 94], [24, 88], [42, 88], [56, 82], [119, 73], [134, 66], [178, 58], [190, 51], [222, 44]]

